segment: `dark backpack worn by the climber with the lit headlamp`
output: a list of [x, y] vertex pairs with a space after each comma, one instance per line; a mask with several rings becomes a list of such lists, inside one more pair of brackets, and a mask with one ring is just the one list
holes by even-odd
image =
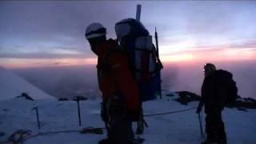
[[232, 105], [238, 98], [238, 87], [234, 82], [233, 75], [226, 70], [217, 70], [218, 79], [222, 81], [223, 88], [226, 89], [226, 98], [224, 98], [225, 105]]

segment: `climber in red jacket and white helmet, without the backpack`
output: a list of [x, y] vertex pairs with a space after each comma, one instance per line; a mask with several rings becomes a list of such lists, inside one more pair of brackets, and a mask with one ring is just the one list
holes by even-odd
[[98, 86], [102, 91], [102, 120], [108, 138], [99, 144], [132, 144], [132, 122], [140, 114], [139, 91], [129, 69], [128, 58], [113, 39], [106, 40], [106, 28], [92, 23], [86, 28], [86, 39], [98, 56]]

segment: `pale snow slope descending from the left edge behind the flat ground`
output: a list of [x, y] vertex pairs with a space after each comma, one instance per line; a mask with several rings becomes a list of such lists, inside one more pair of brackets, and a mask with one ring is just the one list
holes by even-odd
[[34, 99], [54, 98], [26, 82], [12, 71], [0, 67], [0, 100], [14, 98], [23, 92]]

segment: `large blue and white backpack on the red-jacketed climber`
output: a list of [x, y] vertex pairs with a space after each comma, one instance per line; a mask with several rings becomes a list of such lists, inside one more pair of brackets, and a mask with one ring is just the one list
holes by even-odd
[[130, 70], [138, 83], [141, 101], [149, 101], [161, 93], [162, 63], [152, 42], [152, 36], [141, 22], [133, 18], [115, 24], [122, 51], [129, 59]]

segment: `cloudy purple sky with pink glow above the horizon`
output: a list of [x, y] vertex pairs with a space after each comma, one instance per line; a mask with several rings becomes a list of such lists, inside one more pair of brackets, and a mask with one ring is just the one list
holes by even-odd
[[256, 60], [254, 1], [1, 1], [0, 66], [94, 64], [86, 26], [101, 22], [116, 38], [114, 24], [137, 4], [150, 34], [158, 29], [163, 62]]

